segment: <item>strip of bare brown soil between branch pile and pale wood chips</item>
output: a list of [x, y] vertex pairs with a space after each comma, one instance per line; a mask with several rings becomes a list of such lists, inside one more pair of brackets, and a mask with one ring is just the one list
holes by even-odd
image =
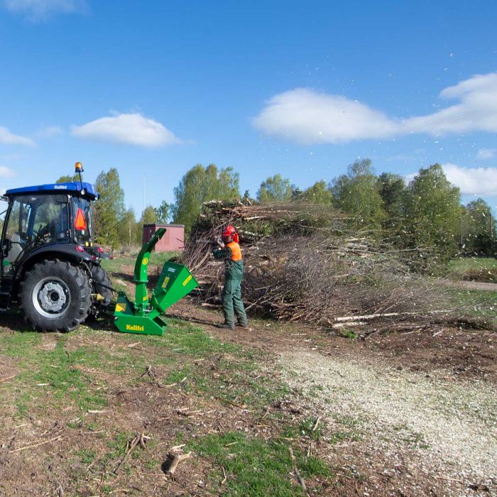
[[[302, 324], [251, 320], [250, 332], [236, 327], [234, 332], [215, 327], [222, 313], [192, 305], [188, 299], [170, 311], [208, 329], [222, 339], [275, 353], [295, 347], [330, 356], [388, 362], [412, 371], [442, 371], [454, 378], [485, 378], [497, 381], [497, 332], [493, 329], [464, 329], [454, 324], [420, 326], [409, 332], [371, 334], [367, 338], [346, 339], [326, 329]], [[385, 325], [388, 329], [388, 324]]]

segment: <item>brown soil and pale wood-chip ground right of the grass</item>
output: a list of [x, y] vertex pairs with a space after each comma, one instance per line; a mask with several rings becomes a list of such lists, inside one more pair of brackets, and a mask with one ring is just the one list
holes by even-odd
[[208, 324], [219, 314], [185, 301], [175, 312], [222, 339], [271, 350], [296, 403], [331, 432], [359, 430], [360, 441], [324, 454], [344, 464], [343, 478], [351, 468], [364, 476], [351, 494], [497, 495], [495, 331], [438, 325], [353, 340], [264, 321], [226, 332]]

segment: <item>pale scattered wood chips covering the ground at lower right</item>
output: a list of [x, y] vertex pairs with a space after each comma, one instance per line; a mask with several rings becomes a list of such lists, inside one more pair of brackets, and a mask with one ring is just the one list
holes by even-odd
[[[493, 495], [497, 484], [497, 394], [486, 381], [454, 381], [388, 364], [367, 363], [309, 351], [280, 354], [285, 380], [302, 391], [337, 429], [347, 420], [362, 447], [381, 452], [383, 474], [400, 459], [411, 476], [468, 484]], [[411, 491], [413, 488], [411, 487]]]

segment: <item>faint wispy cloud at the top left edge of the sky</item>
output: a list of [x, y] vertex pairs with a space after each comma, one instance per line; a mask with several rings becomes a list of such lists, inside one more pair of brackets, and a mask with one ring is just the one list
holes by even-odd
[[33, 22], [46, 21], [58, 13], [84, 13], [88, 10], [86, 0], [4, 0], [4, 6]]

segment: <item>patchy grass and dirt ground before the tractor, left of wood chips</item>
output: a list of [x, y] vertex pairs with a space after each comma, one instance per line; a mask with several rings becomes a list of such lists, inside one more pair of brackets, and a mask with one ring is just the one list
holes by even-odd
[[[56, 462], [57, 448], [48, 454], [33, 449], [19, 455], [24, 468], [33, 464], [33, 474], [42, 471], [35, 459], [54, 466], [54, 478], [64, 482], [68, 495], [107, 495], [119, 488], [129, 495], [152, 495], [153, 487], [133, 491], [130, 481], [141, 473], [160, 473], [165, 449], [182, 444], [197, 454], [193, 471], [201, 474], [206, 464], [210, 468], [202, 486], [211, 494], [220, 491], [224, 479], [226, 495], [303, 495], [288, 478], [292, 445], [303, 478], [332, 481], [325, 461], [302, 452], [295, 416], [268, 413], [268, 406], [285, 398], [288, 388], [259, 366], [261, 353], [209, 337], [187, 322], [168, 320], [163, 337], [117, 334], [105, 322], [70, 334], [4, 329], [0, 359], [16, 372], [0, 383], [0, 434], [16, 433], [16, 451], [60, 433], [62, 463]], [[260, 428], [248, 427], [265, 413], [268, 436], [257, 437]], [[148, 420], [145, 426], [143, 419]], [[35, 423], [34, 430], [16, 430], [33, 420], [39, 429]], [[57, 430], [50, 431], [50, 425]], [[215, 428], [222, 425], [226, 430]], [[150, 437], [146, 450], [136, 450], [116, 474], [137, 431]], [[297, 434], [295, 442], [281, 438], [288, 433]], [[30, 488], [16, 486], [15, 474], [3, 480], [2, 495], [24, 494]], [[316, 485], [318, 490], [321, 484]]]

